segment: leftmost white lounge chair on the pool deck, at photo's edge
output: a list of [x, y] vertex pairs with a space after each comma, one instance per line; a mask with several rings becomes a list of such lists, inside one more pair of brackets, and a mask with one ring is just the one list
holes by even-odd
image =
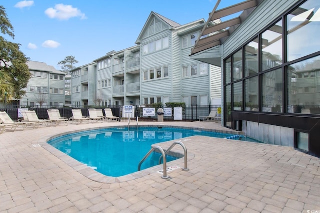
[[[5, 132], [14, 132], [15, 130], [22, 131], [24, 130], [24, 128], [34, 129], [34, 126], [35, 126], [34, 122], [12, 121], [10, 116], [5, 111], [0, 111], [0, 122], [1, 122], [1, 125], [4, 125]], [[21, 128], [18, 128], [18, 127], [21, 127]]]

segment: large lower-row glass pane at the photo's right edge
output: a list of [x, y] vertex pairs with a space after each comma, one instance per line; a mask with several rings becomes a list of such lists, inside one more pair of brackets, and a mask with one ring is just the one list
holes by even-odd
[[320, 114], [320, 56], [287, 67], [287, 112]]

